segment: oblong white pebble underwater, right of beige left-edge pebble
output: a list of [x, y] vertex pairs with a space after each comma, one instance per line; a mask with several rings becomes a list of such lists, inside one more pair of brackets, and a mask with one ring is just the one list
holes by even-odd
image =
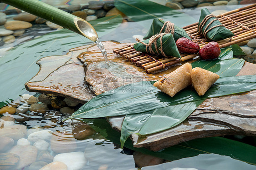
[[28, 140], [31, 142], [36, 142], [37, 140], [46, 140], [49, 141], [51, 139], [51, 134], [53, 131], [51, 130], [40, 130], [28, 135]]

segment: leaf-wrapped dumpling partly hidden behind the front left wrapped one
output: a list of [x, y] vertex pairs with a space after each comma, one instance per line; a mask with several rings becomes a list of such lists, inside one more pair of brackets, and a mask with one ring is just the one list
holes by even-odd
[[[164, 26], [163, 30], [162, 30], [162, 33], [164, 32], [168, 32], [168, 33], [171, 33], [170, 32], [170, 29], [168, 28], [169, 27], [169, 23], [166, 23], [164, 25], [165, 21], [164, 20], [161, 20], [161, 19], [154, 19], [152, 24], [151, 24], [151, 27], [150, 29], [148, 30], [148, 33], [144, 36], [144, 40], [152, 37], [153, 35], [156, 35], [156, 34], [159, 34], [160, 31], [162, 30], [162, 27]], [[178, 26], [174, 25], [174, 34], [173, 34], [173, 37], [174, 37], [174, 40], [177, 41], [179, 38], [181, 37], [185, 37], [185, 38], [188, 38], [189, 40], [190, 37], [189, 35], [186, 33], [186, 31], [182, 28], [179, 28]]]

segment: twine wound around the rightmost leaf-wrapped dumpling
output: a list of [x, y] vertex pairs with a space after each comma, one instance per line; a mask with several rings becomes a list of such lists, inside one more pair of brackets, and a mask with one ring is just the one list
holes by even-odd
[[[210, 18], [215, 18], [215, 19], [214, 19], [214, 20], [211, 20], [210, 23], [206, 25], [206, 27], [205, 27], [205, 30], [206, 30], [206, 31], [205, 31], [205, 30], [203, 30], [203, 27], [205, 26], [206, 22], [207, 22]], [[204, 18], [204, 20], [202, 20], [202, 22], [201, 22], [200, 25], [198, 26], [198, 31], [199, 31], [200, 35], [203, 35], [203, 36], [207, 39], [206, 34], [207, 34], [210, 30], [212, 30], [212, 29], [214, 29], [214, 28], [216, 28], [216, 27], [219, 27], [219, 26], [224, 26], [224, 25], [222, 25], [222, 24], [220, 24], [220, 25], [215, 25], [215, 26], [211, 27], [209, 30], [207, 30], [207, 29], [210, 27], [210, 25], [211, 25], [214, 21], [216, 21], [216, 20], [218, 20], [218, 19], [216, 18], [215, 15], [213, 15], [213, 14], [206, 15], [205, 18]]]

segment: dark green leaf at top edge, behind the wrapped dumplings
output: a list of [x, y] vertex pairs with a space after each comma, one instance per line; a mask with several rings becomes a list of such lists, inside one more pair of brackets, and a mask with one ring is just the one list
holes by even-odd
[[149, 0], [115, 0], [115, 6], [133, 21], [143, 21], [138, 23], [147, 29], [152, 23], [151, 19], [157, 18], [169, 20], [180, 27], [197, 22], [189, 15]]

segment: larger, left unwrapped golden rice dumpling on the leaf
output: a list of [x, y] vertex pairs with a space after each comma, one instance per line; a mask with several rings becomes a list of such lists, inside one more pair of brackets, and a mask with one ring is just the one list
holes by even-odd
[[173, 97], [180, 90], [191, 85], [192, 66], [186, 63], [154, 83], [154, 86]]

